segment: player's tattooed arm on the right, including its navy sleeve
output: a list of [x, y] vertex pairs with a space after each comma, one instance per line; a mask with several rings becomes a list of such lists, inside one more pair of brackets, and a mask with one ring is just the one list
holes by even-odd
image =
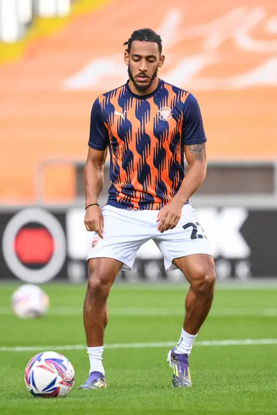
[[182, 141], [188, 162], [188, 171], [175, 197], [159, 212], [158, 230], [173, 229], [181, 217], [181, 209], [206, 176], [206, 136], [199, 104], [193, 95], [189, 95], [184, 109], [184, 128]]

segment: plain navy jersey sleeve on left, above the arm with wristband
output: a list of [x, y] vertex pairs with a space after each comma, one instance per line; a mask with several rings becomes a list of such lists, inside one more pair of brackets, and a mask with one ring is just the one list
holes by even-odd
[[91, 124], [89, 129], [89, 147], [105, 150], [109, 145], [109, 133], [102, 119], [102, 111], [97, 98], [91, 109]]

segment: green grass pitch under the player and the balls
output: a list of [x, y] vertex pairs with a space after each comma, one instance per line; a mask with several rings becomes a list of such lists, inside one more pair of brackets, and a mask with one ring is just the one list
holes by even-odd
[[[218, 284], [190, 356], [193, 388], [173, 389], [166, 362], [170, 347], [162, 343], [173, 346], [179, 338], [188, 286], [115, 285], [104, 352], [108, 387], [98, 391], [78, 390], [89, 371], [82, 324], [85, 286], [42, 286], [51, 306], [37, 320], [12, 314], [16, 287], [0, 286], [1, 415], [277, 414], [277, 286], [223, 289]], [[256, 344], [241, 344], [247, 339]], [[269, 344], [261, 344], [267, 339]], [[212, 340], [219, 343], [205, 343]], [[235, 341], [222, 345], [224, 340]], [[75, 385], [66, 398], [35, 399], [24, 384], [24, 369], [36, 353], [54, 347], [71, 360]]]

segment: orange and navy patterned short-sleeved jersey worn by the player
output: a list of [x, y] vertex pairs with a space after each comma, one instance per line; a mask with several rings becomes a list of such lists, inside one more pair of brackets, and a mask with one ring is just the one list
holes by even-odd
[[116, 208], [161, 209], [184, 179], [184, 145], [205, 141], [195, 97], [163, 80], [149, 95], [134, 95], [127, 82], [91, 109], [89, 146], [109, 147], [107, 204]]

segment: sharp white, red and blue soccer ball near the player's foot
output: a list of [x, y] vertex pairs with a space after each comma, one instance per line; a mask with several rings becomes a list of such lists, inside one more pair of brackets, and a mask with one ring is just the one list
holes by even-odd
[[74, 385], [71, 362], [55, 351], [44, 351], [33, 357], [25, 369], [28, 391], [36, 398], [66, 396]]

